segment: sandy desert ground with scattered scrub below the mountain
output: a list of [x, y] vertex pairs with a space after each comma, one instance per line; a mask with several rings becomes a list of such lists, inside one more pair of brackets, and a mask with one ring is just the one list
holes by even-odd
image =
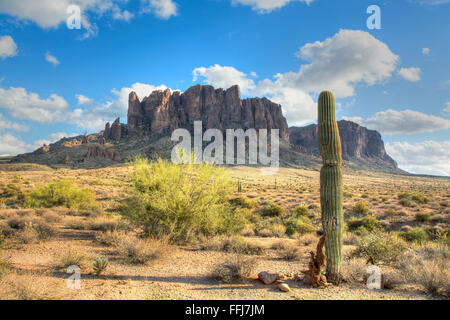
[[[346, 169], [344, 282], [316, 289], [300, 272], [319, 239], [318, 171], [280, 168], [276, 175], [262, 176], [258, 168], [227, 168], [240, 185], [233, 197], [247, 208], [246, 227], [240, 235], [180, 245], [140, 238], [119, 214], [118, 205], [130, 192], [127, 165], [92, 170], [0, 166], [0, 299], [422, 300], [449, 294], [449, 178]], [[93, 191], [98, 209], [21, 207], [21, 195], [59, 179]], [[268, 208], [277, 213], [265, 215]], [[288, 232], [285, 222], [293, 212], [306, 218]], [[376, 230], [395, 236], [404, 250], [376, 261], [384, 288], [369, 290], [367, 255], [355, 252]], [[405, 266], [413, 261], [405, 255], [421, 262]], [[94, 267], [99, 258], [108, 260], [100, 272]], [[237, 267], [234, 281], [218, 276], [225, 263]], [[67, 288], [66, 269], [74, 264], [81, 269], [80, 290]], [[262, 271], [279, 273], [280, 279], [265, 285], [257, 279]], [[280, 291], [281, 282], [290, 291]]]

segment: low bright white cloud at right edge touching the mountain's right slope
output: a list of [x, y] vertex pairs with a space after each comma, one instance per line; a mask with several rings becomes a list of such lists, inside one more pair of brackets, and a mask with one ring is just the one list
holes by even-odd
[[386, 151], [408, 172], [450, 176], [450, 141], [387, 143]]

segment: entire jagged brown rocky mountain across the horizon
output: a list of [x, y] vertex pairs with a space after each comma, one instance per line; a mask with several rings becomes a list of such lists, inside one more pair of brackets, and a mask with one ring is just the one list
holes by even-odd
[[[241, 99], [240, 89], [227, 90], [196, 85], [185, 92], [157, 90], [148, 97], [129, 95], [128, 123], [117, 118], [99, 133], [63, 138], [38, 150], [15, 157], [13, 162], [95, 168], [126, 161], [141, 154], [170, 158], [171, 132], [193, 129], [249, 128], [280, 130], [280, 163], [285, 166], [320, 168], [317, 126], [288, 128], [281, 106], [267, 98]], [[344, 166], [354, 169], [401, 172], [387, 155], [381, 135], [356, 123], [340, 121]]]

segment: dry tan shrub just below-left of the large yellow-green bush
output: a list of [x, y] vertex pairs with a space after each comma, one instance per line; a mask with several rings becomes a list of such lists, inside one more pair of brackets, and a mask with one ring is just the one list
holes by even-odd
[[163, 258], [170, 248], [164, 239], [139, 239], [126, 235], [117, 242], [117, 250], [127, 263], [146, 264]]

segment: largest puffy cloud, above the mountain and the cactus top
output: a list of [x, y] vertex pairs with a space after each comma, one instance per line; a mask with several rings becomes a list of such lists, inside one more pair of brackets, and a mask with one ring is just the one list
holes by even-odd
[[298, 72], [278, 73], [258, 83], [234, 67], [220, 65], [194, 69], [194, 81], [223, 88], [238, 84], [245, 95], [267, 95], [282, 105], [290, 125], [302, 125], [316, 118], [311, 95], [330, 89], [338, 98], [353, 96], [358, 84], [389, 79], [399, 60], [386, 44], [357, 30], [341, 30], [323, 42], [308, 43], [297, 56], [309, 63]]

